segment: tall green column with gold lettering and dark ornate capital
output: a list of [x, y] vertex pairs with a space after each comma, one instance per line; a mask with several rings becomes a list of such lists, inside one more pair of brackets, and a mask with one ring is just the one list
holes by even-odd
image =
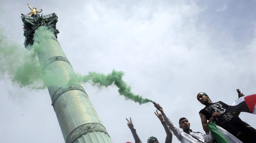
[[[25, 47], [28, 49], [37, 42], [40, 46], [37, 55], [43, 71], [59, 73], [64, 82], [68, 82], [74, 71], [57, 40], [56, 14], [42, 17], [22, 15], [21, 18], [26, 29]], [[35, 33], [37, 29], [40, 30]], [[112, 143], [81, 85], [61, 87], [60, 83], [48, 86], [48, 91], [66, 143]]]

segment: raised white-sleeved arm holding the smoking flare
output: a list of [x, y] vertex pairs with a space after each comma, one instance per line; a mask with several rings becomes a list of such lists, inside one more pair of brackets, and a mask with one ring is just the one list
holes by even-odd
[[182, 139], [181, 131], [172, 123], [172, 121], [165, 115], [163, 108], [159, 104], [155, 104], [155, 107], [158, 111], [161, 112], [162, 116], [164, 117], [164, 120], [166, 124], [170, 127], [170, 130], [173, 132], [173, 134], [177, 137], [178, 140]]

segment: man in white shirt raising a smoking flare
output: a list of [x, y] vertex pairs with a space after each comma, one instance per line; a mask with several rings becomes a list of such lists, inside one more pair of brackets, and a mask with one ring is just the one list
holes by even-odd
[[179, 120], [179, 127], [182, 128], [183, 132], [181, 132], [172, 121], [165, 115], [163, 108], [159, 104], [154, 104], [156, 109], [159, 110], [164, 117], [166, 124], [170, 127], [170, 130], [177, 137], [181, 143], [205, 143], [205, 142], [213, 142], [214, 138], [212, 137], [211, 131], [210, 133], [203, 134], [200, 132], [192, 132], [190, 130], [190, 123], [186, 118], [181, 118]]

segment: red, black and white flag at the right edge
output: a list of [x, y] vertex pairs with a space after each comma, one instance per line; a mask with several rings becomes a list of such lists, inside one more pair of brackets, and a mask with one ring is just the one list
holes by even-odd
[[256, 94], [242, 96], [234, 101], [226, 112], [248, 112], [256, 114]]

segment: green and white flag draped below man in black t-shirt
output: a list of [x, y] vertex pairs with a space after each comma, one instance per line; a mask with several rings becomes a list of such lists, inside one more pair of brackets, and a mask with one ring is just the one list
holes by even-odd
[[213, 138], [217, 142], [221, 143], [243, 143], [239, 139], [237, 139], [234, 135], [226, 131], [224, 128], [218, 126], [215, 122], [211, 122], [208, 126], [206, 126], [211, 132]]

